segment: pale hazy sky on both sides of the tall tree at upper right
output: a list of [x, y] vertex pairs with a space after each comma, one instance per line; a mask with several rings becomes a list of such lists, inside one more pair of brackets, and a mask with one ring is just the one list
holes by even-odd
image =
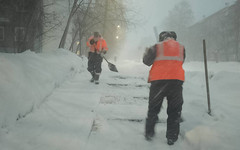
[[[140, 42], [143, 47], [156, 42], [153, 27], [158, 26], [158, 32], [164, 29], [160, 28], [162, 21], [168, 15], [168, 11], [173, 9], [174, 5], [182, 0], [126, 0], [129, 9], [135, 10], [139, 15], [137, 17], [141, 22], [135, 29], [128, 31], [128, 38], [125, 49], [136, 49]], [[195, 22], [207, 17], [218, 10], [226, 7], [225, 3], [233, 4], [236, 0], [187, 0], [192, 6]], [[143, 40], [144, 39], [144, 40]], [[147, 41], [146, 41], [147, 40]]]

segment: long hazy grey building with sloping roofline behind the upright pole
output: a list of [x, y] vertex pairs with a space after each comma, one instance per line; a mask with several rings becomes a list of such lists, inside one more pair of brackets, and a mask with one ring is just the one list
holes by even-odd
[[190, 60], [203, 60], [205, 39], [208, 60], [240, 61], [240, 2], [192, 25], [185, 37]]

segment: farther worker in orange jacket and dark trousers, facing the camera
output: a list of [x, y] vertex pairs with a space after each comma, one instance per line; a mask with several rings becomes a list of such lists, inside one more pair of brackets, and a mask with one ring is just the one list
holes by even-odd
[[108, 47], [106, 41], [101, 37], [99, 32], [94, 32], [87, 41], [89, 47], [88, 53], [88, 71], [91, 73], [92, 78], [90, 82], [99, 84], [99, 76], [102, 72], [103, 56], [107, 53]]

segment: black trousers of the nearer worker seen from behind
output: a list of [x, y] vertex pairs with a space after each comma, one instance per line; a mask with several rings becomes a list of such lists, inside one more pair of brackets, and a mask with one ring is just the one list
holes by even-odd
[[183, 104], [182, 85], [183, 81], [180, 80], [158, 80], [151, 82], [146, 132], [154, 132], [154, 126], [158, 119], [157, 115], [160, 112], [163, 99], [166, 97], [168, 102], [166, 137], [177, 140]]

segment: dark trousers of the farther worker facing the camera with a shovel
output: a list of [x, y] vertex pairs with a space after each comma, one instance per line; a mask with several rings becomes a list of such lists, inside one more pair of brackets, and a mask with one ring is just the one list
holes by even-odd
[[100, 54], [89, 52], [88, 53], [88, 68], [87, 70], [94, 76], [100, 75], [102, 72], [103, 58]]

